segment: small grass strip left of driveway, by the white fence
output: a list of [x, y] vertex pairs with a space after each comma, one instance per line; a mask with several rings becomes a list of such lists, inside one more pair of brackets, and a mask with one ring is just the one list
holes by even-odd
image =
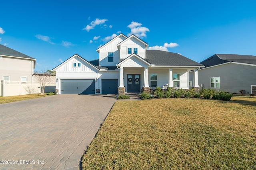
[[47, 95], [41, 96], [40, 94], [28, 94], [28, 95], [20, 95], [20, 96], [4, 96], [4, 97], [0, 96], [0, 104], [16, 102], [16, 101], [20, 101], [20, 100], [41, 98], [41, 97], [45, 97], [45, 96], [47, 96]]

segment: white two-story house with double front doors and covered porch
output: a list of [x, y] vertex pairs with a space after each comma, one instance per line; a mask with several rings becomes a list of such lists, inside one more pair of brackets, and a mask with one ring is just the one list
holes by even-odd
[[58, 94], [125, 94], [150, 92], [166, 86], [189, 88], [188, 71], [204, 67], [177, 53], [147, 50], [148, 44], [135, 35], [116, 36], [96, 51], [99, 59], [87, 61], [75, 54], [56, 71]]

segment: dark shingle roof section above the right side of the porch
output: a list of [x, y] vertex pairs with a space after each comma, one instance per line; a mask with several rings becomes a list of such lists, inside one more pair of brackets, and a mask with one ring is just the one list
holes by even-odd
[[172, 53], [160, 50], [147, 50], [146, 61], [155, 66], [200, 66], [203, 64], [197, 63], [178, 53]]

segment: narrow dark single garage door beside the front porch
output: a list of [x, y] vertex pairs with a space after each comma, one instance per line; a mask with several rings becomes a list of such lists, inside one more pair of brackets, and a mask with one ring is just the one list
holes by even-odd
[[102, 79], [102, 94], [117, 94], [118, 79]]

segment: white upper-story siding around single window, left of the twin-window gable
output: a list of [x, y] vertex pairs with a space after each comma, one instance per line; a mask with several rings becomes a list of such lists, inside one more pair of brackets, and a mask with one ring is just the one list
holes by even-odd
[[[119, 51], [117, 45], [122, 42], [125, 37], [120, 36], [114, 39], [112, 42], [106, 44], [102, 49], [99, 51], [100, 56], [100, 66], [116, 66], [119, 63]], [[108, 52], [114, 53], [114, 61], [108, 62]]]

